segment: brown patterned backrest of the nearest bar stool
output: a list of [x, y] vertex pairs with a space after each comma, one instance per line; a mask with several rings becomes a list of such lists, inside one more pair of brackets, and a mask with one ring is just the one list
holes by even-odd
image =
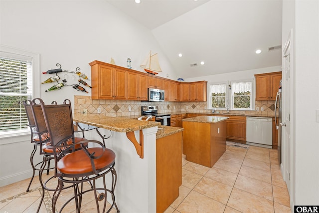
[[47, 131], [53, 146], [66, 145], [74, 140], [72, 108], [69, 100], [63, 104], [46, 105], [41, 99], [40, 106], [43, 112]]

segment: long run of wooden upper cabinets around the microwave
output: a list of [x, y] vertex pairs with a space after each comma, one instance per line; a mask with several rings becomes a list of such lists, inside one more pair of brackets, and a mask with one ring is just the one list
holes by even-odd
[[92, 99], [148, 100], [148, 88], [165, 90], [165, 101], [206, 101], [207, 81], [180, 83], [101, 61], [92, 61]]

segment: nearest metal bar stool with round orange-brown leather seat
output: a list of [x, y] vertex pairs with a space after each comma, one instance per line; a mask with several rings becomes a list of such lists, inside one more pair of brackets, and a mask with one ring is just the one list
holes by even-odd
[[[68, 144], [69, 140], [74, 141], [72, 109], [69, 100], [65, 100], [63, 104], [45, 105], [40, 100], [47, 130], [50, 134], [51, 145], [54, 155], [54, 176], [58, 179], [58, 186], [54, 191], [52, 198], [52, 211], [55, 211], [56, 203], [63, 188], [63, 184], [72, 184], [74, 196], [70, 198], [61, 207], [60, 212], [72, 200], [75, 201], [76, 212], [80, 213], [82, 196], [88, 192], [94, 192], [97, 212], [100, 212], [99, 201], [104, 199], [103, 213], [110, 212], [113, 207], [119, 213], [119, 209], [115, 203], [114, 190], [116, 185], [117, 174], [115, 171], [115, 153], [105, 148], [103, 143], [99, 141], [83, 140], [78, 142], [81, 144], [81, 150], [75, 151], [74, 144]], [[85, 143], [94, 143], [99, 147], [86, 148]], [[110, 189], [106, 188], [106, 174], [112, 175], [112, 185]], [[103, 188], [96, 188], [95, 181], [103, 178]], [[93, 189], [85, 190], [83, 184], [92, 182]], [[103, 190], [103, 193], [97, 195], [97, 190]], [[106, 210], [107, 194], [111, 194], [111, 207]]]

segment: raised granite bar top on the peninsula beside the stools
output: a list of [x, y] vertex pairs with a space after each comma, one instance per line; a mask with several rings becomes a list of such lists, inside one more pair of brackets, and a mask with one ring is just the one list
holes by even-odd
[[160, 122], [155, 121], [140, 121], [127, 117], [108, 117], [96, 114], [83, 115], [80, 113], [73, 115], [73, 121], [115, 132], [133, 132], [136, 130], [160, 126]]

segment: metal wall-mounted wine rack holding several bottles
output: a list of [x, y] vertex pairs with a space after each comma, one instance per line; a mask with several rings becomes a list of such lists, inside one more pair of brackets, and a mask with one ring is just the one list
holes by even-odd
[[[55, 76], [46, 79], [45, 81], [41, 82], [41, 84], [57, 83], [57, 84], [54, 84], [53, 86], [51, 86], [49, 89], [45, 90], [45, 92], [58, 90], [58, 89], [61, 89], [64, 86], [72, 86], [72, 88], [76, 89], [77, 91], [82, 91], [82, 92], [89, 93], [88, 91], [86, 91], [86, 89], [83, 86], [87, 86], [87, 87], [90, 87], [90, 88], [92, 88], [92, 87], [87, 82], [85, 82], [84, 80], [81, 79], [81, 78], [83, 78], [83, 79], [87, 80], [88, 77], [84, 73], [80, 72], [80, 68], [79, 67], [77, 67], [75, 69], [76, 71], [68, 71], [68, 70], [62, 70], [62, 66], [59, 63], [57, 63], [56, 66], [58, 66], [59, 68], [50, 69], [50, 70], [47, 70], [46, 72], [42, 72], [42, 74], [55, 74]], [[62, 80], [62, 83], [59, 83], [59, 80], [61, 80], [61, 78], [60, 78], [60, 76], [58, 76], [58, 73], [60, 73], [60, 72], [68, 72], [68, 73], [77, 74], [79, 76], [79, 79], [78, 79], [79, 83], [71, 84], [71, 85], [66, 84], [66, 82], [67, 82], [66, 78], [68, 78], [68, 75], [64, 75], [64, 79]], [[75, 80], [74, 75], [72, 75], [72, 79], [73, 78]], [[81, 86], [81, 85], [83, 85], [83, 86]]]

